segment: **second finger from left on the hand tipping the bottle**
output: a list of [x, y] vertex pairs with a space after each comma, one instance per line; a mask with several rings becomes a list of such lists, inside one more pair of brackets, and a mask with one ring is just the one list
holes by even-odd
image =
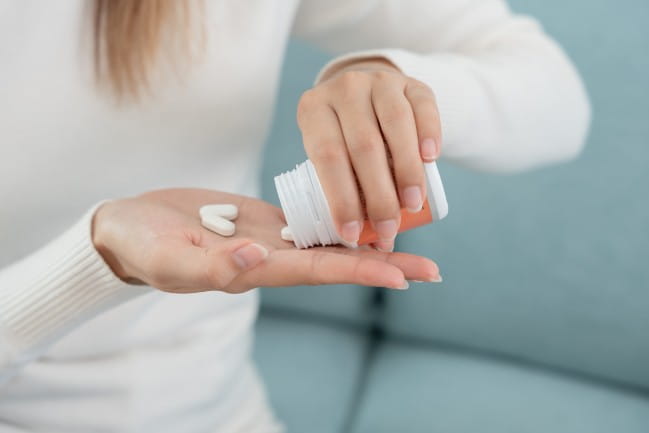
[[379, 238], [392, 242], [400, 224], [399, 198], [379, 124], [371, 101], [371, 82], [346, 74], [334, 108], [358, 178], [367, 216]]

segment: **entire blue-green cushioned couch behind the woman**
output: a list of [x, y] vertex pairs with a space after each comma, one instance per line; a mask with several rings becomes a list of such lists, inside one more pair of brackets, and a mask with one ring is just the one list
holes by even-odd
[[[263, 290], [255, 348], [289, 432], [649, 432], [649, 2], [511, 0], [580, 70], [590, 138], [517, 175], [441, 162], [446, 220], [398, 238], [442, 284]], [[294, 42], [264, 166], [306, 158]]]

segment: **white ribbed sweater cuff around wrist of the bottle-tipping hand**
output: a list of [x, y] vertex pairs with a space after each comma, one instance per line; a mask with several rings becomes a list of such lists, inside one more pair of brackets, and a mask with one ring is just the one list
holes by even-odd
[[471, 61], [450, 53], [423, 55], [400, 49], [358, 51], [327, 63], [318, 73], [315, 83], [322, 81], [329, 71], [346, 63], [377, 57], [388, 60], [405, 75], [427, 84], [433, 90], [442, 125], [442, 155], [464, 156], [470, 149], [462, 149], [459, 143], [467, 141], [467, 131], [471, 131], [470, 125], [477, 113], [478, 107], [475, 105], [479, 105], [481, 100], [476, 95], [482, 94], [478, 83], [470, 75]]

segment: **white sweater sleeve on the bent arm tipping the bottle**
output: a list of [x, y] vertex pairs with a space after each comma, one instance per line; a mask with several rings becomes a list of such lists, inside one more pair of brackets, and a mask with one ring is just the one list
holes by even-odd
[[590, 105], [579, 75], [540, 25], [503, 0], [303, 0], [298, 38], [341, 55], [382, 57], [435, 92], [442, 156], [519, 171], [576, 156]]

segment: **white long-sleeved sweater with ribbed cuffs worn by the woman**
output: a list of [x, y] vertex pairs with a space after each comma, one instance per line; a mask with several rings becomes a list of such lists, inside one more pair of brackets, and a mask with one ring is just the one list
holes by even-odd
[[291, 35], [429, 84], [459, 164], [527, 169], [585, 139], [575, 69], [501, 0], [208, 0], [201, 60], [122, 109], [93, 87], [84, 3], [0, 0], [0, 432], [278, 430], [249, 358], [256, 293], [126, 285], [89, 221], [162, 187], [256, 194]]

